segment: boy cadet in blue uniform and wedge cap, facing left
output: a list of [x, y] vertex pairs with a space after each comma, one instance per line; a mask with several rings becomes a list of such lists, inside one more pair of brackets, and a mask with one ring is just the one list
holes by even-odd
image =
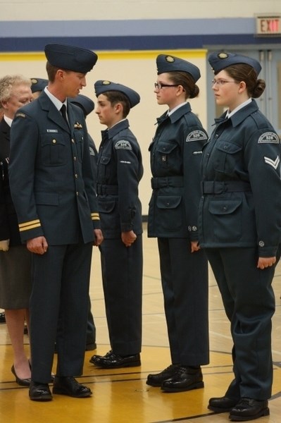
[[104, 243], [101, 269], [111, 351], [90, 362], [103, 368], [141, 364], [142, 345], [142, 207], [138, 196], [142, 154], [126, 119], [139, 94], [125, 85], [94, 84], [102, 132], [97, 194]]

